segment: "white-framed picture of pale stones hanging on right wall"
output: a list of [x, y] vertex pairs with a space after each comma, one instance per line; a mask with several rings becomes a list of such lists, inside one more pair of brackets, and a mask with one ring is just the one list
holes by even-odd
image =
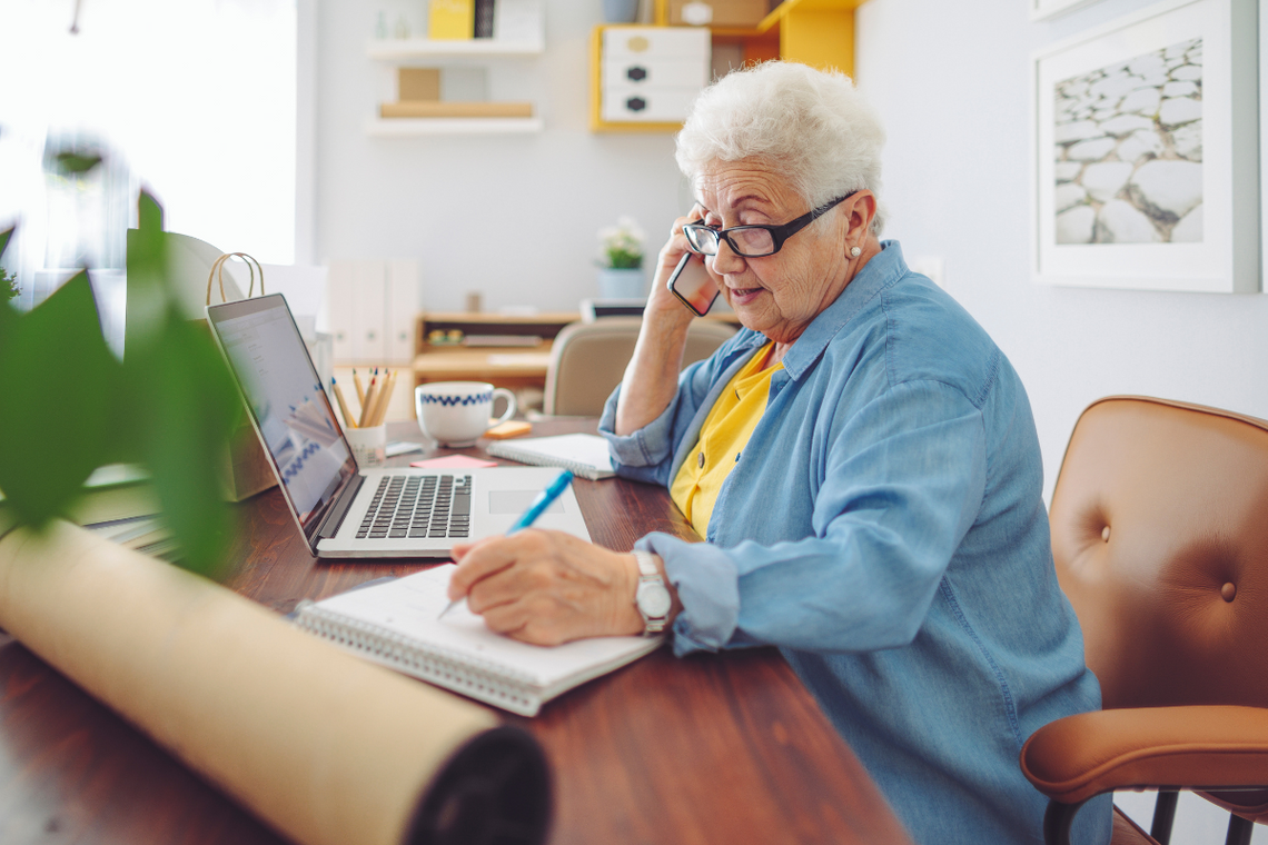
[[1033, 275], [1259, 289], [1258, 0], [1168, 0], [1033, 56]]

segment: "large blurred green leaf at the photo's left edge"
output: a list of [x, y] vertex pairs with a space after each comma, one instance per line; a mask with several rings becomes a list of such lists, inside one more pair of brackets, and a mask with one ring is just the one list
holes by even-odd
[[27, 314], [0, 313], [0, 489], [20, 522], [42, 526], [104, 462], [119, 362], [85, 271]]

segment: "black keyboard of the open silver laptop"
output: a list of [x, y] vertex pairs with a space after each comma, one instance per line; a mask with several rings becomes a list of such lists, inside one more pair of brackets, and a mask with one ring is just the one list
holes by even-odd
[[470, 475], [384, 475], [356, 538], [469, 537], [470, 518]]

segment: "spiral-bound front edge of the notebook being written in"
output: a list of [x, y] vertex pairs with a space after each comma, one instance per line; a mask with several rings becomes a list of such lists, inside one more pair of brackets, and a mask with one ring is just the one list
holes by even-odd
[[375, 663], [512, 712], [534, 716], [540, 707], [536, 696], [529, 692], [533, 677], [501, 664], [458, 658], [437, 646], [420, 647], [410, 637], [369, 622], [349, 619], [309, 600], [295, 607], [295, 625]]

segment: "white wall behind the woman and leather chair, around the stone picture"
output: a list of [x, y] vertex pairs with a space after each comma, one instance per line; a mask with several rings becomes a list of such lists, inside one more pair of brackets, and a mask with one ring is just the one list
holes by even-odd
[[[858, 10], [858, 84], [889, 132], [886, 236], [908, 257], [946, 260], [947, 290], [1021, 372], [1049, 494], [1079, 413], [1099, 397], [1139, 393], [1268, 417], [1268, 296], [1030, 279], [1030, 54], [1149, 3], [1101, 0], [1041, 23], [1028, 20], [1025, 0], [870, 0]], [[1117, 801], [1148, 830], [1153, 796]], [[1172, 841], [1221, 842], [1226, 820], [1184, 796]]]

